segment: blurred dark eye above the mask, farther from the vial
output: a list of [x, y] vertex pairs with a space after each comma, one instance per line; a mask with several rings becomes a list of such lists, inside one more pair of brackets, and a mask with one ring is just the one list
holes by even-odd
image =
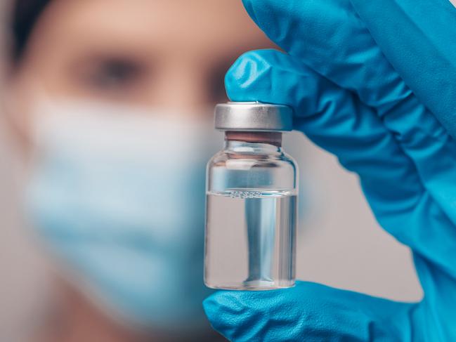
[[145, 76], [145, 66], [128, 58], [98, 58], [79, 70], [84, 84], [100, 91], [124, 91]]

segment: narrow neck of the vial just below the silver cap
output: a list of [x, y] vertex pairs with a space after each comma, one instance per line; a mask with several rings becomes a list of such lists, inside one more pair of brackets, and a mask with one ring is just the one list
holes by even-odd
[[252, 152], [281, 152], [282, 133], [280, 132], [240, 132], [225, 133], [226, 150], [252, 149]]

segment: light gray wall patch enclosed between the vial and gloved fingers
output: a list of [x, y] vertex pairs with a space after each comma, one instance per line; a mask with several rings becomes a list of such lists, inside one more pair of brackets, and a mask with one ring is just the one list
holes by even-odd
[[395, 300], [422, 290], [410, 251], [379, 227], [358, 178], [301, 133], [285, 138], [301, 173], [297, 277]]

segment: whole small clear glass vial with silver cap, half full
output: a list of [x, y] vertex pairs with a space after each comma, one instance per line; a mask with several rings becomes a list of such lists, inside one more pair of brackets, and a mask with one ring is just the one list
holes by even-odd
[[216, 106], [225, 146], [207, 165], [204, 283], [214, 289], [294, 286], [297, 165], [282, 150], [292, 110], [265, 103]]

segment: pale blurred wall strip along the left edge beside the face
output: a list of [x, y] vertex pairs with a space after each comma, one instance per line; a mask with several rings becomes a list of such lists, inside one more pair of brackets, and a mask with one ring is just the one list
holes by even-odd
[[[4, 15], [9, 1], [0, 0], [0, 52], [4, 51]], [[0, 341], [28, 341], [46, 301], [47, 268], [37, 244], [21, 223], [18, 196], [21, 168], [6, 134], [2, 87], [6, 71], [0, 53]]]

